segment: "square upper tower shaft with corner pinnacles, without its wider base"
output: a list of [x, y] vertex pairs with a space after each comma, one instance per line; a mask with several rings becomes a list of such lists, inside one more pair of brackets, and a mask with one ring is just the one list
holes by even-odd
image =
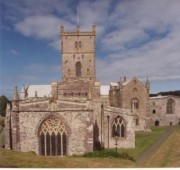
[[95, 25], [92, 31], [65, 32], [61, 26], [62, 81], [95, 81]]

